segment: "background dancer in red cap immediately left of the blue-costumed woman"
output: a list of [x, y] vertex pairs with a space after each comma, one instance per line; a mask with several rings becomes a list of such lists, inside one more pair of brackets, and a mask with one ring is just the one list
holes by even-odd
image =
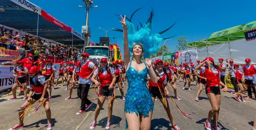
[[114, 69], [115, 70], [115, 75], [116, 75], [116, 83], [117, 83], [117, 85], [118, 85], [118, 88], [119, 88], [119, 90], [120, 90], [120, 93], [121, 93], [121, 95], [122, 95], [122, 100], [123, 101], [125, 101], [125, 96], [124, 96], [124, 90], [122, 89], [122, 84], [121, 84], [121, 82], [120, 82], [120, 75], [121, 75], [121, 73], [122, 73], [122, 69], [119, 67], [119, 66], [117, 66], [116, 65], [117, 63], [116, 63], [116, 61], [114, 61], [113, 63], [112, 63], [112, 69]]

